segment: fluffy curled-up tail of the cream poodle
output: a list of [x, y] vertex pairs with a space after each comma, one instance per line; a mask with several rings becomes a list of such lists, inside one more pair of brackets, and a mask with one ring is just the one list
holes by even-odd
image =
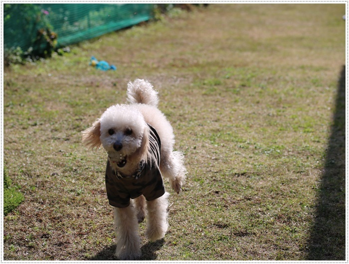
[[149, 104], [158, 106], [158, 92], [153, 89], [153, 85], [142, 79], [129, 81], [127, 84], [127, 100], [133, 104]]

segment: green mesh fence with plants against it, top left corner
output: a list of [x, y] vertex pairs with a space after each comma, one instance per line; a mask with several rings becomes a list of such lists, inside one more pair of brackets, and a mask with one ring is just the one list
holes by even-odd
[[36, 52], [65, 46], [149, 20], [153, 9], [149, 3], [7, 3], [4, 46]]

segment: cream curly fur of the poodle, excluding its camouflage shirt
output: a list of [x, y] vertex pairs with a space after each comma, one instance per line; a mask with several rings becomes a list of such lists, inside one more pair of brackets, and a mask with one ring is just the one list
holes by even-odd
[[[123, 175], [132, 175], [142, 159], [148, 155], [147, 123], [156, 129], [161, 140], [160, 171], [169, 179], [176, 193], [181, 191], [185, 179], [184, 156], [173, 150], [173, 128], [157, 108], [158, 92], [153, 85], [141, 79], [128, 83], [128, 105], [109, 107], [93, 125], [83, 131], [82, 141], [89, 148], [101, 145], [108, 153], [113, 169]], [[117, 144], [117, 147], [115, 146]], [[120, 161], [123, 161], [122, 167]], [[165, 236], [168, 229], [167, 208], [169, 194], [153, 201], [140, 196], [126, 208], [114, 208], [114, 224], [118, 245], [116, 256], [120, 260], [137, 260], [141, 257], [138, 223], [148, 212], [146, 236], [154, 241]]]

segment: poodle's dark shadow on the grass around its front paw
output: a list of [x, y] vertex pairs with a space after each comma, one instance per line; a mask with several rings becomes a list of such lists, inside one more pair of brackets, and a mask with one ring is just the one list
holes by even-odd
[[[142, 257], [138, 261], [154, 261], [158, 258], [156, 253], [165, 243], [164, 239], [148, 242], [141, 248]], [[119, 261], [115, 256], [116, 245], [104, 248], [96, 256], [89, 259], [89, 261]]]

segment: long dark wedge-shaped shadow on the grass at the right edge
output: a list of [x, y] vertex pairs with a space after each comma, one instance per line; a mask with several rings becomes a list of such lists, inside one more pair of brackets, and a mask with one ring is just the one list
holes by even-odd
[[308, 260], [346, 259], [346, 67], [338, 83], [317, 212], [308, 241]]

